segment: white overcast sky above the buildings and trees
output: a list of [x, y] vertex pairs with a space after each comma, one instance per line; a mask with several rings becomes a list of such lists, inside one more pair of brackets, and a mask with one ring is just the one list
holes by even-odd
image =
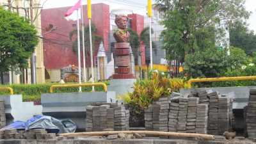
[[[46, 2], [45, 2], [46, 1]], [[44, 8], [57, 8], [65, 6], [73, 6], [78, 0], [41, 0], [44, 3]], [[42, 4], [41, 3], [41, 4]], [[86, 4], [86, 0], [82, 0], [83, 4]], [[132, 10], [133, 13], [138, 13], [140, 15], [147, 15], [147, 0], [92, 0], [93, 3], [106, 3], [109, 4], [110, 10], [113, 9], [126, 9]], [[152, 0], [154, 3], [154, 0]], [[249, 28], [256, 33], [256, 0], [246, 0], [246, 9], [252, 12], [248, 23]]]

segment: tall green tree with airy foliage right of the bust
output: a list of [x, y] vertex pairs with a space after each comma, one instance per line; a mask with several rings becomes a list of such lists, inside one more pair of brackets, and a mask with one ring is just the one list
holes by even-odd
[[217, 24], [247, 19], [244, 0], [156, 0], [163, 12], [164, 46], [167, 58], [174, 54], [184, 61], [186, 54], [215, 46], [216, 33], [223, 35]]

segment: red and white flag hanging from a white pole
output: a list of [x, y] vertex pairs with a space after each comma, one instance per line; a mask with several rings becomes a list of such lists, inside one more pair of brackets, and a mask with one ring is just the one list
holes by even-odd
[[[78, 15], [77, 12], [75, 12], [76, 10], [78, 10]], [[67, 20], [77, 20], [77, 19], [81, 19], [81, 0], [77, 1], [77, 3], [72, 6], [72, 8], [70, 8], [67, 13], [65, 13], [65, 19]]]

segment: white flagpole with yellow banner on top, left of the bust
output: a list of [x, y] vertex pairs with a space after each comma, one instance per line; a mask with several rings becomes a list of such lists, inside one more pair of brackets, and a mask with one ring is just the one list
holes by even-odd
[[[92, 73], [92, 83], [94, 83], [94, 76], [93, 76], [93, 53], [92, 53], [92, 26], [91, 26], [91, 19], [92, 19], [92, 7], [91, 7], [91, 0], [87, 0], [87, 17], [89, 19], [89, 32], [90, 32], [90, 59], [91, 59], [91, 73]], [[95, 92], [94, 86], [92, 86], [92, 92]]]

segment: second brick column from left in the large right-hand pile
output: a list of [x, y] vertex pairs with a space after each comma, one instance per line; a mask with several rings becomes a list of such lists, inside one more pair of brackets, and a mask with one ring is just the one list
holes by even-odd
[[153, 130], [159, 131], [159, 113], [160, 113], [160, 102], [153, 102]]

